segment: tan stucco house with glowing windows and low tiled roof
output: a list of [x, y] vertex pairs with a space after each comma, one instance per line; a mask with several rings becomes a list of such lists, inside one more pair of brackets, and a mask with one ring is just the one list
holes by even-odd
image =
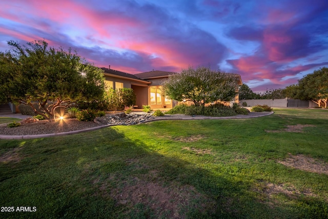
[[138, 74], [129, 74], [109, 68], [104, 70], [105, 83], [113, 89], [132, 88], [136, 94], [136, 107], [149, 105], [152, 109], [172, 108], [177, 101], [165, 98], [161, 93], [161, 82], [175, 72], [150, 71]]

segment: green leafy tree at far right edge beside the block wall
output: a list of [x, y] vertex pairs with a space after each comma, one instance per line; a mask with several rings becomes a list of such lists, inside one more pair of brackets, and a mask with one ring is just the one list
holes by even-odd
[[327, 108], [328, 98], [328, 68], [315, 70], [298, 81], [300, 99], [311, 100], [319, 106]]

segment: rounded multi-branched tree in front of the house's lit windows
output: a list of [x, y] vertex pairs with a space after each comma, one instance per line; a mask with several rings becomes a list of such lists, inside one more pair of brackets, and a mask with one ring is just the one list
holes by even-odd
[[162, 92], [176, 101], [192, 101], [204, 106], [215, 101], [231, 101], [237, 90], [237, 77], [207, 67], [183, 69], [162, 84]]

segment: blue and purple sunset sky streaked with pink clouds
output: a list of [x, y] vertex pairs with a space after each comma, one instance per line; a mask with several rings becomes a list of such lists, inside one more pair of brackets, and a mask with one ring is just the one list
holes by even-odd
[[328, 0], [2, 0], [0, 51], [45, 39], [127, 73], [238, 73], [255, 92], [328, 67]]

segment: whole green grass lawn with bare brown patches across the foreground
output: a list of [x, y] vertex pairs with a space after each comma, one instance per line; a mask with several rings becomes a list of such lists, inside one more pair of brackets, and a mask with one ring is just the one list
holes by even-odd
[[274, 111], [0, 140], [0, 217], [328, 218], [328, 111]]

